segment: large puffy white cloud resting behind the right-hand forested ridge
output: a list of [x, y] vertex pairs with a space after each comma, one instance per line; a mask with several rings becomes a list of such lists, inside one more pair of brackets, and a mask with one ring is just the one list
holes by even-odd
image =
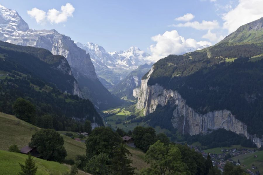
[[158, 61], [170, 54], [180, 55], [206, 44], [212, 45], [212, 43], [207, 41], [197, 42], [192, 38], [184, 39], [176, 30], [166, 31], [164, 34], [153, 36], [152, 40], [156, 43], [149, 48], [152, 55], [149, 59], [154, 61]]

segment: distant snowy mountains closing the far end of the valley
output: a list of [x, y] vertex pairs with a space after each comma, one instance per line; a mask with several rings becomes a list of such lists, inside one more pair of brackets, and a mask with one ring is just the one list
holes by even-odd
[[94, 43], [82, 44], [76, 42], [77, 46], [89, 53], [94, 64], [96, 74], [103, 85], [110, 89], [119, 83], [132, 70], [142, 64], [150, 64], [147, 57], [150, 55], [141, 51], [138, 47], [132, 46], [126, 51], [107, 52], [102, 46]]

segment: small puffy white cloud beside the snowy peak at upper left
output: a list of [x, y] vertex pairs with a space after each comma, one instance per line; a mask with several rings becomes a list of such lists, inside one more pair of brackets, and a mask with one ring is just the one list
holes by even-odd
[[45, 11], [39, 10], [38, 8], [32, 8], [32, 10], [27, 11], [27, 14], [30, 15], [30, 17], [35, 18], [37, 23], [43, 24], [44, 22], [48, 21], [51, 24], [58, 24], [61, 22], [66, 22], [68, 17], [73, 17], [74, 11], [75, 8], [70, 3], [66, 3], [65, 6], [61, 6], [60, 11], [53, 8], [48, 10], [46, 13]]

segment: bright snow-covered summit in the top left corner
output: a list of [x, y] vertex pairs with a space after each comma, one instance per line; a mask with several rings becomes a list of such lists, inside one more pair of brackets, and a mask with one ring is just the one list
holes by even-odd
[[15, 31], [27, 31], [28, 24], [15, 10], [10, 10], [0, 4], [0, 27]]

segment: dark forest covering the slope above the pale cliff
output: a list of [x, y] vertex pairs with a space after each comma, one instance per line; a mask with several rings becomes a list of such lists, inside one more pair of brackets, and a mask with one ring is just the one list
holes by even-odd
[[[207, 55], [212, 55], [208, 58]], [[248, 126], [250, 134], [263, 134], [263, 60], [261, 44], [229, 46], [222, 43], [203, 52], [169, 55], [154, 64], [148, 85], [158, 83], [177, 90], [198, 113], [227, 109]], [[226, 55], [237, 57], [225, 62]], [[230, 57], [228, 56], [228, 57]]]

